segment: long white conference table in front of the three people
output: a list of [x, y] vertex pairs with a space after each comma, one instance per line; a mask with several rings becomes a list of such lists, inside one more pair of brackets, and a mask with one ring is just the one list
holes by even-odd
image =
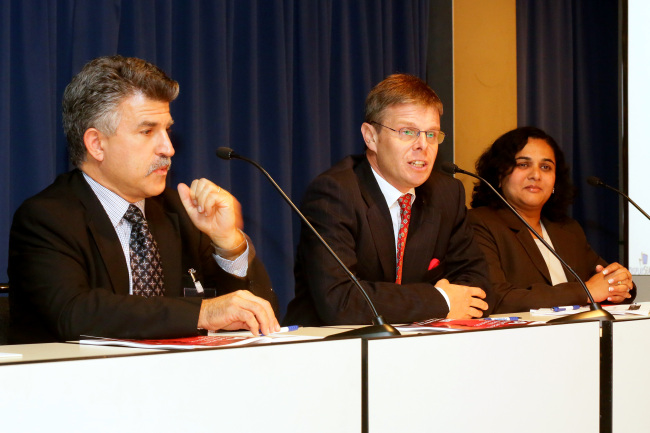
[[173, 352], [0, 346], [23, 354], [0, 359], [0, 431], [597, 432], [603, 392], [612, 431], [646, 431], [629, 415], [650, 385], [648, 327], [612, 325], [613, 385], [598, 322]]

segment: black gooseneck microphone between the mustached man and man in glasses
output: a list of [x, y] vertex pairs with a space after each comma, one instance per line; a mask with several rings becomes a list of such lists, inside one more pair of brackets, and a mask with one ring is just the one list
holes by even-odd
[[395, 329], [392, 325], [386, 323], [384, 321], [384, 318], [381, 317], [379, 315], [379, 313], [377, 313], [377, 309], [375, 308], [374, 304], [370, 300], [370, 297], [368, 296], [368, 293], [363, 289], [363, 287], [361, 286], [361, 284], [359, 283], [357, 278], [354, 276], [354, 274], [352, 272], [350, 272], [348, 267], [345, 266], [345, 264], [341, 261], [339, 256], [337, 256], [336, 253], [334, 252], [334, 250], [332, 250], [332, 248], [327, 244], [327, 242], [325, 242], [325, 239], [323, 239], [323, 237], [318, 233], [318, 231], [316, 231], [314, 226], [312, 226], [311, 223], [309, 221], [307, 221], [307, 218], [305, 218], [305, 216], [302, 214], [302, 212], [300, 212], [300, 210], [291, 201], [291, 199], [289, 197], [287, 197], [287, 195], [284, 193], [282, 188], [280, 188], [278, 186], [278, 184], [275, 183], [275, 181], [273, 180], [271, 175], [268, 174], [266, 172], [266, 170], [264, 170], [264, 168], [261, 165], [259, 165], [257, 162], [253, 161], [252, 159], [248, 159], [248, 158], [246, 158], [244, 156], [236, 154], [235, 151], [230, 149], [229, 147], [220, 147], [220, 148], [218, 148], [217, 149], [217, 156], [219, 158], [221, 158], [221, 159], [226, 159], [226, 160], [230, 160], [230, 159], [233, 159], [233, 158], [241, 159], [242, 161], [246, 161], [249, 164], [252, 164], [255, 167], [257, 167], [257, 169], [259, 169], [264, 174], [264, 176], [266, 176], [266, 178], [273, 184], [275, 189], [278, 190], [278, 192], [284, 198], [284, 200], [287, 203], [289, 203], [289, 206], [291, 206], [291, 208], [294, 210], [294, 212], [296, 212], [298, 214], [298, 216], [300, 217], [300, 219], [302, 219], [302, 221], [305, 223], [305, 225], [307, 227], [309, 227], [309, 229], [312, 231], [312, 233], [314, 233], [314, 235], [318, 238], [318, 240], [321, 242], [321, 244], [323, 244], [325, 249], [327, 249], [327, 251], [332, 255], [332, 257], [334, 257], [334, 259], [337, 261], [339, 266], [341, 266], [341, 268], [345, 271], [345, 273], [348, 275], [350, 280], [352, 280], [354, 285], [359, 289], [359, 291], [361, 292], [361, 294], [365, 298], [366, 302], [368, 303], [368, 306], [370, 306], [370, 310], [372, 311], [372, 315], [373, 315], [373, 319], [372, 319], [373, 324], [371, 326], [365, 326], [363, 328], [352, 329], [350, 331], [342, 332], [342, 333], [339, 333], [339, 334], [334, 334], [334, 335], [331, 335], [331, 336], [327, 337], [327, 339], [341, 339], [341, 338], [353, 338], [353, 337], [375, 338], [375, 337], [388, 337], [388, 336], [391, 336], [391, 335], [401, 335], [400, 332], [397, 329]]

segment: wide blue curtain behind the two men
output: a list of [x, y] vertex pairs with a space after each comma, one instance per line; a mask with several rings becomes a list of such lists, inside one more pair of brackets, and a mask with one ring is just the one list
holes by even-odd
[[0, 264], [15, 209], [70, 168], [65, 85], [94, 57], [137, 56], [180, 83], [170, 186], [207, 177], [241, 201], [284, 308], [299, 221], [260, 173], [215, 150], [256, 159], [299, 201], [313, 177], [363, 149], [373, 84], [425, 78], [428, 17], [429, 0], [3, 1]]

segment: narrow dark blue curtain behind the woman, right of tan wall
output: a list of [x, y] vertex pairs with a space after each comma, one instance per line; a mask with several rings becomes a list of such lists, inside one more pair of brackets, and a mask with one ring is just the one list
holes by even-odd
[[571, 165], [573, 216], [592, 247], [623, 263], [619, 185], [618, 0], [517, 0], [518, 124], [544, 129]]

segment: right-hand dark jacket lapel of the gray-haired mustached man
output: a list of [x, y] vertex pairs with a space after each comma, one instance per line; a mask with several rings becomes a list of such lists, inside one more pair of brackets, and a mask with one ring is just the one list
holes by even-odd
[[163, 264], [166, 296], [182, 296], [182, 250], [178, 215], [165, 212], [158, 200], [145, 201], [149, 230], [158, 244]]

